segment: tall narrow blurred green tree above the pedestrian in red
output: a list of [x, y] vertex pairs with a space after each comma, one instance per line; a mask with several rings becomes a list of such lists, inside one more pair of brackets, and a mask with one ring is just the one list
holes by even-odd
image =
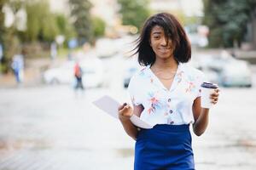
[[69, 0], [73, 25], [79, 38], [79, 44], [92, 42], [92, 21], [90, 8], [92, 4], [88, 0]]

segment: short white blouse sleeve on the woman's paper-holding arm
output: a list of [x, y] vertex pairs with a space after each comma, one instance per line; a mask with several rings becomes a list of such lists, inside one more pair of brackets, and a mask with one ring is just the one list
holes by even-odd
[[129, 82], [128, 86], [128, 93], [131, 97], [131, 102], [133, 105], [141, 105], [142, 104], [142, 89], [140, 84], [140, 78], [138, 75], [134, 75], [131, 77], [131, 80]]

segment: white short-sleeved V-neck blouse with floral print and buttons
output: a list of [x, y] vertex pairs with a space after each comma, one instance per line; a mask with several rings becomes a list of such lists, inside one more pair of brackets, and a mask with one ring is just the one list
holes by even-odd
[[138, 71], [128, 87], [133, 105], [143, 105], [140, 118], [156, 124], [182, 125], [194, 122], [192, 105], [201, 96], [204, 74], [186, 64], [179, 64], [170, 89], [150, 70], [150, 65]]

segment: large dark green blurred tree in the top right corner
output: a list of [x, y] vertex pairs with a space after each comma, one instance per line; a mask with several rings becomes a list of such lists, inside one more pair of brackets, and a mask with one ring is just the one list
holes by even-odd
[[255, 0], [203, 0], [204, 24], [209, 26], [211, 47], [239, 46], [256, 7]]

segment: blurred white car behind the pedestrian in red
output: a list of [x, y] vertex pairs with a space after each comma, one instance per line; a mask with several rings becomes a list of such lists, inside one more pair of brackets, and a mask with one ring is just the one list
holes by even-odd
[[[67, 61], [59, 67], [44, 72], [44, 82], [48, 84], [73, 84], [75, 61]], [[79, 61], [83, 72], [85, 88], [101, 87], [103, 84], [103, 68], [100, 59], [83, 59]]]

